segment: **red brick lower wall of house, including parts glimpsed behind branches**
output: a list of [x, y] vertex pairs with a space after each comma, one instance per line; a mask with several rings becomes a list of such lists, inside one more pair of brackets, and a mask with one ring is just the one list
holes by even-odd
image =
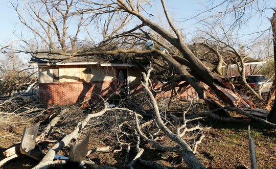
[[[154, 85], [157, 90], [161, 84]], [[177, 90], [178, 88], [176, 88]], [[169, 98], [172, 95], [171, 87], [167, 87], [168, 91], [159, 92], [155, 98]], [[63, 83], [40, 83], [39, 93], [40, 101], [47, 105], [73, 105], [91, 98], [90, 102], [99, 100], [99, 96], [106, 98], [108, 95], [116, 91], [116, 84], [113, 81], [93, 81], [93, 82], [63, 82]], [[93, 93], [94, 92], [94, 93]], [[140, 94], [143, 92], [141, 85], [130, 86], [130, 93]], [[198, 96], [192, 87], [178, 93], [178, 98], [183, 100], [191, 100], [194, 96], [195, 100]], [[175, 95], [175, 93], [173, 93]]]

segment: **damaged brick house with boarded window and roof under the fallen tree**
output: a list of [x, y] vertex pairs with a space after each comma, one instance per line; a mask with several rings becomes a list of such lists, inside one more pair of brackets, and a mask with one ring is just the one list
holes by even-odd
[[112, 62], [103, 56], [37, 54], [29, 64], [38, 66], [40, 101], [47, 105], [94, 102], [122, 89], [130, 93], [141, 82], [141, 70], [135, 64]]

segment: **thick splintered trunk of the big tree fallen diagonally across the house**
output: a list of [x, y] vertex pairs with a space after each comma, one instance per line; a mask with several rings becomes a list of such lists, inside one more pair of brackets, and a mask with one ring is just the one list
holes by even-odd
[[[162, 1], [162, 3], [164, 2]], [[177, 29], [172, 25], [172, 22], [167, 15], [167, 10], [165, 5], [163, 5], [164, 12], [166, 14], [170, 27], [176, 36], [171, 35], [162, 27], [158, 26], [150, 19], [147, 19], [139, 11], [136, 11], [134, 8], [130, 8], [122, 0], [118, 0], [118, 4], [122, 9], [125, 10], [125, 12], [135, 15], [143, 22], [145, 26], [148, 26], [149, 28], [151, 28], [153, 31], [158, 33], [160, 36], [165, 38], [168, 42], [170, 42], [173, 46], [177, 48], [177, 50], [183, 56], [183, 57], [177, 56], [177, 60], [175, 58], [172, 58], [170, 55], [165, 54], [162, 51], [158, 52], [156, 50], [156, 52], [158, 52], [160, 56], [162, 56], [162, 58], [166, 60], [171, 66], [173, 66], [178, 70], [178, 73], [180, 74], [180, 76], [182, 76], [188, 83], [191, 84], [192, 87], [195, 88], [199, 98], [204, 99], [206, 104], [209, 106], [211, 110], [224, 106], [223, 102], [233, 107], [238, 107], [244, 110], [256, 108], [253, 103], [242, 98], [236, 92], [235, 88], [231, 83], [229, 83], [225, 79], [222, 79], [221, 77], [214, 75], [212, 71], [208, 67], [206, 67], [191, 52], [188, 46], [183, 42], [183, 39], [179, 35]], [[183, 61], [182, 63], [180, 63], [181, 60]], [[190, 73], [188, 73], [188, 71], [183, 66], [183, 64], [185, 64], [191, 69], [192, 76], [190, 76]], [[213, 90], [213, 92], [210, 92], [209, 89], [206, 89], [202, 84], [200, 84], [200, 81], [208, 85]], [[216, 95], [223, 102], [216, 99], [214, 93], [216, 93]]]

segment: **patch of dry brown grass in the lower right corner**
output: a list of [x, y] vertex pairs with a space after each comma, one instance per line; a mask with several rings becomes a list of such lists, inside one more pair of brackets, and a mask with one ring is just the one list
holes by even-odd
[[258, 123], [216, 124], [205, 135], [198, 158], [209, 168], [250, 167], [247, 127], [255, 139], [259, 168], [276, 167], [276, 130]]

